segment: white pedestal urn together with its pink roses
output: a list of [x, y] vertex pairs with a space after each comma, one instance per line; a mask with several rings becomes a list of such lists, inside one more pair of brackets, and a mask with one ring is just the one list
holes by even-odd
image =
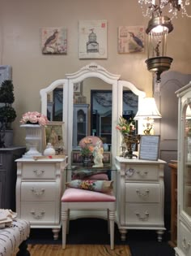
[[33, 158], [34, 156], [42, 155], [38, 147], [42, 143], [43, 130], [49, 120], [45, 115], [39, 112], [27, 112], [23, 114], [20, 120], [20, 127], [25, 128], [26, 131], [26, 146], [28, 151], [23, 155], [24, 158]]

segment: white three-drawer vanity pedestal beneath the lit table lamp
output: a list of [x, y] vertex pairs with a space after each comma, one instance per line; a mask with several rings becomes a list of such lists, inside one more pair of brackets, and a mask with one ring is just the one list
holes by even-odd
[[158, 241], [162, 241], [166, 229], [163, 222], [165, 163], [116, 157], [117, 226], [122, 241], [128, 229], [156, 230]]

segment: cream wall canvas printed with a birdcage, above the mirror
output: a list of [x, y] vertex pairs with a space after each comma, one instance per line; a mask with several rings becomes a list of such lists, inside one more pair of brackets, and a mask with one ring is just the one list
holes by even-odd
[[107, 20], [80, 20], [79, 59], [107, 57]]

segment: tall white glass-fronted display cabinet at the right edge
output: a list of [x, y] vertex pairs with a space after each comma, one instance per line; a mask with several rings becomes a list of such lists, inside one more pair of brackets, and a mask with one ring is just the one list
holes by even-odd
[[178, 184], [176, 256], [191, 256], [191, 82], [176, 91], [178, 110]]

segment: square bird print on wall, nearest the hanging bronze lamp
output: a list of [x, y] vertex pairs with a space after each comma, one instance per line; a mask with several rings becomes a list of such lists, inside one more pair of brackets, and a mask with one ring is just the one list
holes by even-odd
[[118, 53], [142, 53], [145, 51], [145, 28], [121, 26], [118, 28]]

